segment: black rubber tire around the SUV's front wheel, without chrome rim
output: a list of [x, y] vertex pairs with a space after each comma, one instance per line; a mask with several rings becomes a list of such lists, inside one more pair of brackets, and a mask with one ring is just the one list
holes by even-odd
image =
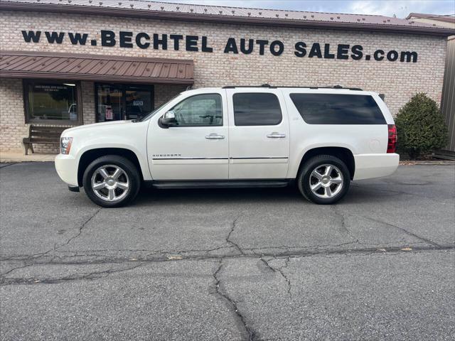
[[[102, 197], [100, 197], [99, 195], [101, 196], [106, 195], [108, 197], [109, 190], [104, 189], [99, 190], [97, 191], [97, 193], [99, 193], [98, 195], [92, 188], [92, 177], [94, 176], [95, 172], [98, 173], [97, 170], [102, 166], [107, 166], [106, 169], [109, 175], [111, 175], [111, 173], [109, 173], [109, 170], [111, 172], [112, 170], [115, 170], [115, 168], [110, 166], [118, 167], [120, 168], [121, 171], [124, 172], [120, 176], [122, 176], [124, 179], [123, 183], [128, 183], [128, 188], [127, 190], [123, 190], [122, 188], [114, 189], [115, 193], [119, 192], [122, 193], [122, 195], [119, 195], [119, 199], [117, 200], [108, 201], [109, 198], [102, 199]], [[100, 177], [100, 174], [95, 175], [95, 177]], [[100, 180], [102, 180], [102, 178], [100, 178]], [[132, 202], [132, 200], [134, 200], [134, 198], [137, 196], [137, 193], [139, 193], [139, 189], [141, 187], [141, 177], [136, 166], [134, 166], [134, 164], [127, 158], [117, 155], [107, 155], [97, 158], [95, 161], [93, 161], [92, 163], [90, 163], [90, 165], [87, 166], [84, 172], [84, 176], [82, 178], [82, 185], [84, 186], [84, 190], [85, 193], [87, 194], [87, 197], [89, 197], [90, 200], [92, 200], [92, 202], [95, 202], [95, 204], [100, 205], [102, 207], [120, 207], [127, 205], [129, 202]]]

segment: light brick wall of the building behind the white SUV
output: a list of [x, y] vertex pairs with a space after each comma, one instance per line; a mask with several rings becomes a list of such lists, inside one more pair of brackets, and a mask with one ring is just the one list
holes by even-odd
[[[49, 44], [45, 40], [44, 31], [62, 31], [88, 33], [89, 39], [100, 42], [101, 30], [141, 31], [149, 33], [167, 33], [208, 36], [213, 53], [189, 52], [181, 48], [171, 49], [170, 40], [168, 50], [142, 50], [134, 48], [120, 48], [116, 46], [102, 47], [90, 44], [80, 46], [72, 45], [68, 37], [62, 44]], [[43, 31], [40, 43], [26, 43], [21, 30]], [[250, 55], [233, 55], [223, 53], [228, 38], [254, 38], [268, 40], [282, 40], [285, 45], [284, 53], [274, 56], [270, 53], [259, 55], [257, 46]], [[376, 49], [417, 51], [417, 63], [400, 63], [383, 60], [336, 60], [319, 58], [297, 58], [294, 55], [294, 43], [305, 41], [307, 44], [319, 42], [336, 45], [346, 43], [350, 45], [363, 45], [363, 50], [373, 53]], [[323, 46], [323, 45], [322, 45]], [[373, 33], [356, 31], [333, 31], [321, 29], [302, 28], [277, 28], [267, 26], [229, 25], [214, 23], [189, 23], [178, 21], [159, 21], [138, 18], [109, 18], [105, 16], [80, 16], [52, 13], [27, 13], [27, 12], [0, 12], [0, 48], [2, 50], [41, 50], [67, 53], [92, 53], [100, 55], [125, 55], [149, 58], [184, 58], [192, 59], [195, 64], [195, 87], [219, 87], [223, 85], [343, 85], [344, 87], [361, 87], [364, 90], [373, 90], [385, 94], [385, 102], [392, 114], [405, 104], [412, 94], [427, 92], [438, 103], [441, 99], [442, 83], [444, 78], [444, 58], [446, 53], [446, 39], [434, 36], [418, 36], [411, 34]], [[125, 80], [127, 82], [127, 80]], [[23, 131], [23, 112], [18, 109], [22, 106], [21, 89], [17, 86], [20, 82], [14, 81], [13, 85], [4, 85], [1, 82], [1, 102], [8, 102], [11, 114], [17, 113], [18, 117], [8, 116], [6, 119], [10, 131]], [[6, 87], [3, 89], [3, 87]], [[171, 85], [156, 85], [156, 105], [164, 102], [168, 97], [173, 97], [176, 92], [184, 87]], [[82, 97], [84, 122], [95, 121], [94, 86], [92, 82], [82, 82]], [[18, 93], [12, 93], [18, 92]], [[20, 94], [19, 94], [20, 93]], [[10, 97], [5, 99], [3, 97]], [[12, 103], [15, 101], [18, 103]], [[1, 108], [2, 116], [4, 108]], [[3, 123], [2, 123], [3, 124]], [[3, 129], [3, 128], [2, 128]], [[3, 144], [14, 144], [17, 141], [1, 139]]]

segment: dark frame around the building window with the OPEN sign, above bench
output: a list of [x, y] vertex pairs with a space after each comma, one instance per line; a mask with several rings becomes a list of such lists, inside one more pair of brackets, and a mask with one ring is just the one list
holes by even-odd
[[[64, 83], [71, 83], [75, 84], [75, 92], [76, 92], [76, 104], [77, 104], [77, 120], [72, 121], [70, 119], [60, 120], [60, 119], [32, 119], [31, 112], [30, 112], [30, 103], [29, 103], [29, 94], [30, 91], [28, 90], [29, 85], [35, 85], [36, 83], [42, 84], [64, 84]], [[83, 109], [82, 109], [82, 90], [80, 81], [75, 80], [41, 80], [39, 78], [32, 78], [32, 79], [24, 79], [22, 82], [22, 89], [23, 89], [23, 111], [26, 124], [42, 124], [42, 125], [53, 125], [53, 126], [80, 126], [83, 124]]]

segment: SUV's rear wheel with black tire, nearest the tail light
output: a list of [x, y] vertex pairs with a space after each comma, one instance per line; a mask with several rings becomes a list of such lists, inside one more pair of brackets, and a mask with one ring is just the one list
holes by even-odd
[[310, 158], [297, 178], [300, 193], [316, 204], [330, 205], [346, 195], [350, 173], [341, 159], [331, 155]]

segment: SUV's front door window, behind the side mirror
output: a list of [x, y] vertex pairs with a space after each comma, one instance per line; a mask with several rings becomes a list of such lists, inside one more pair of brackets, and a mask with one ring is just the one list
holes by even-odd
[[223, 126], [220, 94], [196, 94], [171, 109], [176, 126]]

